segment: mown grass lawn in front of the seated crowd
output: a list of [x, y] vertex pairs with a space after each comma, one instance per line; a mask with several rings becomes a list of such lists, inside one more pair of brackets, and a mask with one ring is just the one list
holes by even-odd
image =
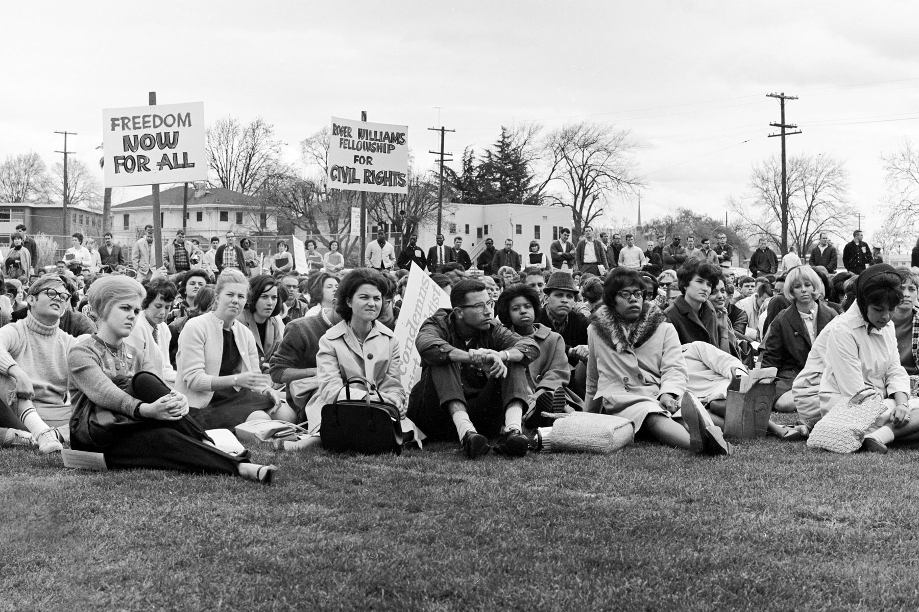
[[275, 486], [0, 451], [0, 610], [916, 610], [915, 451], [276, 455]]

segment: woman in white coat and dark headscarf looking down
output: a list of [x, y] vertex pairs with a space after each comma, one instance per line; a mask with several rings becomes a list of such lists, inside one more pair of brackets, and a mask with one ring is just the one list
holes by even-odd
[[873, 387], [889, 410], [862, 448], [887, 452], [893, 440], [919, 440], [919, 401], [909, 399], [910, 377], [900, 363], [892, 315], [901, 305], [900, 275], [888, 264], [858, 274], [852, 306], [813, 343], [792, 394], [801, 422], [813, 426], [836, 404]]

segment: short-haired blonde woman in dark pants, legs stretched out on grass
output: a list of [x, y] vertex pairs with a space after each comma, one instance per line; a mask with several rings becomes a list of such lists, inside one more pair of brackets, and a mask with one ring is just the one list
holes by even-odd
[[67, 356], [74, 402], [71, 448], [103, 453], [109, 468], [226, 473], [271, 484], [274, 465], [215, 448], [188, 416], [186, 396], [149, 373], [146, 353], [126, 341], [142, 317], [144, 295], [142, 285], [127, 276], [100, 278], [89, 290], [98, 332]]

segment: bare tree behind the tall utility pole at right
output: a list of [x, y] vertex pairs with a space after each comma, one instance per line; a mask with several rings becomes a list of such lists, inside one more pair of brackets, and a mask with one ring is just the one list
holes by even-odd
[[[788, 161], [787, 233], [781, 227], [782, 169], [778, 156], [754, 165], [750, 192], [729, 198], [728, 206], [742, 219], [740, 233], [765, 237], [781, 248], [794, 245], [806, 252], [820, 232], [844, 236], [853, 227], [856, 210], [847, 202], [848, 172], [843, 161], [829, 155], [799, 155]], [[782, 255], [788, 252], [781, 249]]]

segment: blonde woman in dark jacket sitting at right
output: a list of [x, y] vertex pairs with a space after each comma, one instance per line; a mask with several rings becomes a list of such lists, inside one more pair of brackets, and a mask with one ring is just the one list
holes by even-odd
[[833, 308], [823, 306], [823, 282], [809, 265], [793, 268], [782, 291], [791, 302], [772, 321], [763, 342], [764, 368], [777, 368], [778, 383], [775, 409], [794, 412], [791, 384], [804, 369], [813, 342], [823, 328], [836, 317]]

